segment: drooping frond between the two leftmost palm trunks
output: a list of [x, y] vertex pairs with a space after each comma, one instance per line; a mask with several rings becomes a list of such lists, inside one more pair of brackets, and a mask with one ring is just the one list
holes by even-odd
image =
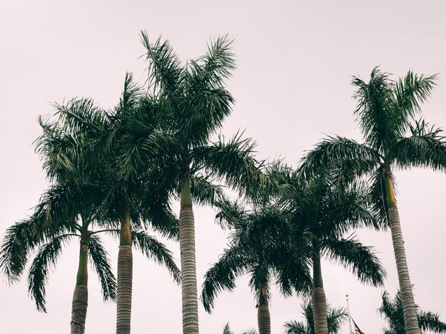
[[112, 271], [112, 265], [107, 250], [105, 250], [99, 237], [95, 235], [89, 237], [89, 255], [93, 268], [99, 276], [104, 301], [109, 299], [116, 301], [116, 279]]

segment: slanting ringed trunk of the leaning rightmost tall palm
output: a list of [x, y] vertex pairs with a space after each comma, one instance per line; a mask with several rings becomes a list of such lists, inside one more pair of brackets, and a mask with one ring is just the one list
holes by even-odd
[[403, 233], [401, 232], [401, 223], [399, 221], [397, 200], [394, 196], [394, 186], [390, 168], [387, 168], [386, 170], [385, 186], [388, 207], [387, 213], [389, 214], [393, 250], [395, 253], [395, 260], [397, 261], [399, 289], [401, 290], [401, 303], [403, 304], [404, 328], [406, 329], [406, 334], [420, 334], [415, 299], [413, 298], [412, 284], [410, 284], [409, 269], [406, 260], [406, 249], [404, 248]]

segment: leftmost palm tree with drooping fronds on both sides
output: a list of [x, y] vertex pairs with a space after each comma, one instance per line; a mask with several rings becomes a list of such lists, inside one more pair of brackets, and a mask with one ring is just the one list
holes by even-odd
[[[88, 191], [87, 191], [88, 190]], [[33, 215], [10, 227], [1, 245], [0, 267], [10, 282], [18, 280], [29, 254], [35, 250], [28, 274], [28, 289], [36, 308], [46, 312], [45, 285], [48, 271], [56, 266], [63, 246], [79, 238], [79, 266], [72, 298], [71, 333], [84, 333], [88, 304], [88, 258], [98, 273], [104, 300], [116, 299], [116, 280], [98, 232], [93, 189], [75, 184], [56, 184], [42, 196]]]

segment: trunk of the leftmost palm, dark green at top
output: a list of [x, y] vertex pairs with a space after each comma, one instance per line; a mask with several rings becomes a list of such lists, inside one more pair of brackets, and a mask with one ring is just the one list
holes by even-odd
[[79, 251], [79, 267], [77, 268], [76, 287], [72, 295], [71, 334], [83, 334], [85, 331], [86, 308], [89, 302], [88, 273], [89, 246], [82, 238]]

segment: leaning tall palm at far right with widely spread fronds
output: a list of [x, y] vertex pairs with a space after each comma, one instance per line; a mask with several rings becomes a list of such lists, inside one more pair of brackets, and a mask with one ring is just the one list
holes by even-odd
[[395, 168], [424, 167], [445, 170], [446, 145], [441, 130], [424, 120], [415, 121], [435, 86], [436, 76], [424, 77], [409, 71], [406, 77], [392, 81], [376, 67], [368, 84], [354, 77], [357, 100], [355, 116], [364, 135], [360, 144], [348, 138], [330, 137], [316, 145], [302, 164], [307, 176], [324, 166], [344, 161], [355, 175], [369, 175], [369, 193], [374, 212], [383, 227], [390, 226], [406, 333], [417, 334], [415, 301], [406, 261], [401, 223], [394, 191]]

